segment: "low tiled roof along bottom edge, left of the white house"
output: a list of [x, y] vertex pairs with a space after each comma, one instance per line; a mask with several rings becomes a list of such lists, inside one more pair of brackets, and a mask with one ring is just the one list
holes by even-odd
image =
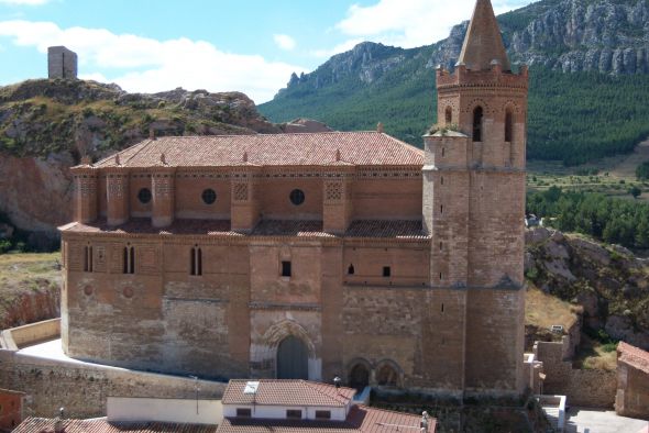
[[[56, 419], [25, 419], [12, 433], [54, 433]], [[106, 418], [92, 420], [64, 420], [65, 433], [215, 433], [216, 425], [176, 424], [167, 422], [108, 422]]]

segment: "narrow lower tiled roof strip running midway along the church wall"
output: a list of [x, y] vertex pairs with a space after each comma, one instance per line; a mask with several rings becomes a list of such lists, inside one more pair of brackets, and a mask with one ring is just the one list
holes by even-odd
[[[243, 236], [233, 232], [230, 220], [174, 220], [172, 225], [157, 229], [151, 219], [133, 218], [119, 226], [109, 226], [106, 220], [91, 223], [73, 222], [59, 227], [63, 232], [73, 233], [114, 233], [114, 234], [186, 234], [186, 235], [220, 235]], [[322, 221], [311, 220], [262, 220], [251, 232], [251, 236], [298, 236], [298, 237], [334, 237], [322, 229]], [[427, 238], [421, 221], [410, 220], [359, 220], [353, 221], [344, 237], [381, 237], [381, 238]]]

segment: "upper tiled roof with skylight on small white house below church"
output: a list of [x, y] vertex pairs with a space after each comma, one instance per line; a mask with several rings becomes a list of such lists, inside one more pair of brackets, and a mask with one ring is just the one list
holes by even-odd
[[333, 385], [308, 380], [260, 379], [254, 393], [245, 393], [250, 380], [233, 379], [223, 392], [223, 404], [270, 404], [270, 406], [346, 406], [354, 393], [352, 388], [336, 388]]

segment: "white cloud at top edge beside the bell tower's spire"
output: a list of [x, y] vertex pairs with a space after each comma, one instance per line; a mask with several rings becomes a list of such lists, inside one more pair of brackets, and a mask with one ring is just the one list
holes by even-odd
[[[530, 2], [494, 0], [493, 4], [498, 14]], [[411, 48], [447, 37], [453, 25], [471, 18], [474, 5], [475, 0], [380, 0], [369, 7], [351, 5], [336, 29], [354, 38]]]

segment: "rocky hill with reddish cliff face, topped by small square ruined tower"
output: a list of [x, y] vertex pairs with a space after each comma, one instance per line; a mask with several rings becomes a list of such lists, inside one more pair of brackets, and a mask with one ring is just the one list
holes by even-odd
[[326, 125], [306, 120], [271, 123], [239, 92], [178, 88], [128, 93], [116, 85], [82, 80], [28, 80], [1, 87], [0, 220], [54, 235], [56, 226], [70, 219], [68, 168], [81, 156], [97, 160], [138, 143], [150, 131], [215, 135], [312, 127]]

